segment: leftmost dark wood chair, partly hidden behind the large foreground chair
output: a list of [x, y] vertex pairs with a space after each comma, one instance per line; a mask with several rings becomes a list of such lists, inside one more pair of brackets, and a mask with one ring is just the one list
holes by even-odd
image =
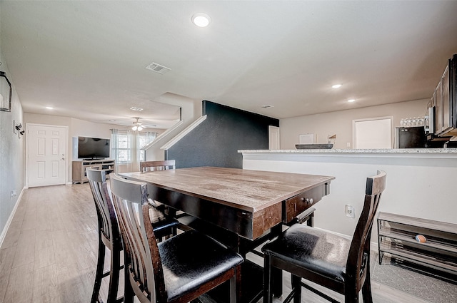
[[[121, 265], [122, 241], [116, 220], [116, 212], [111, 202], [109, 190], [106, 184], [106, 173], [104, 170], [86, 169], [87, 178], [91, 187], [92, 195], [99, 220], [99, 257], [95, 272], [94, 290], [91, 303], [103, 302], [100, 297], [101, 280], [109, 276], [109, 289], [107, 303], [121, 302], [117, 299], [119, 286], [119, 271], [124, 268]], [[106, 247], [111, 251], [111, 267], [104, 272], [104, 261]]]

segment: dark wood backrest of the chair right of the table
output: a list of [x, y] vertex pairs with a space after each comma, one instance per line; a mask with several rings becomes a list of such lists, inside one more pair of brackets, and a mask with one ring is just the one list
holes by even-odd
[[377, 175], [366, 178], [365, 202], [358, 218], [346, 263], [346, 283], [348, 284], [361, 285], [365, 281], [366, 267], [370, 266], [371, 228], [381, 194], [385, 188], [386, 173], [384, 171], [378, 170]]

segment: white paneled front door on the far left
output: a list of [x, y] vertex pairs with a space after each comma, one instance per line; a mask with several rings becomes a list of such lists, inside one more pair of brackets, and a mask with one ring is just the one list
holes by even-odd
[[68, 128], [27, 125], [28, 187], [65, 184]]

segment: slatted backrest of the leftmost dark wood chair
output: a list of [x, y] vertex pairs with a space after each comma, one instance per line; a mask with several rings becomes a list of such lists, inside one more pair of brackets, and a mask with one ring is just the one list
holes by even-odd
[[106, 172], [104, 170], [94, 170], [86, 168], [86, 175], [89, 179], [92, 195], [94, 196], [97, 217], [99, 219], [99, 232], [102, 241], [112, 250], [114, 243], [121, 245], [121, 235], [116, 220], [116, 212], [109, 195], [108, 185], [106, 184]]

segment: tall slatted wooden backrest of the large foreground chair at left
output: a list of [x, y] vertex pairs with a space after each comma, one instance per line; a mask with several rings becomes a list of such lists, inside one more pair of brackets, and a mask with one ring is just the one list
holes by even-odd
[[[124, 270], [140, 302], [166, 302], [164, 272], [156, 237], [149, 223], [146, 183], [110, 174], [111, 195], [124, 241]], [[148, 222], [148, 224], [145, 224]]]

